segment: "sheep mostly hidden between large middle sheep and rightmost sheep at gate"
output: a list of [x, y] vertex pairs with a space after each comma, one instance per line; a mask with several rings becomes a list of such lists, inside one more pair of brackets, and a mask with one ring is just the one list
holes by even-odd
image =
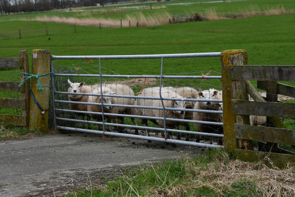
[[[177, 92], [178, 95], [180, 95], [183, 98], [187, 98], [187, 99], [198, 99], [199, 98], [199, 94], [198, 91], [195, 90], [194, 88], [190, 88], [190, 87], [179, 87], [179, 88], [173, 88], [173, 87], [167, 87], [168, 90], [173, 91], [173, 92]], [[186, 109], [193, 109], [195, 105], [195, 101], [186, 101]], [[184, 115], [184, 119], [185, 120], [192, 120], [193, 119], [193, 112], [190, 111], [186, 111], [185, 115]], [[185, 123], [185, 122], [181, 122], [180, 123], [181, 126], [184, 126], [186, 131], [190, 131], [190, 126], [189, 123]], [[179, 128], [178, 128], [179, 130]], [[189, 141], [189, 134], [186, 134], [186, 141]], [[180, 133], [177, 133], [177, 139], [180, 139]]]

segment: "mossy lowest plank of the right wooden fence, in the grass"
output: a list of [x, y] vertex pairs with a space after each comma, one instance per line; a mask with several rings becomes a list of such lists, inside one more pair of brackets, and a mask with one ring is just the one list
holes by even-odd
[[250, 150], [235, 150], [236, 159], [247, 161], [247, 162], [258, 162], [268, 158], [277, 167], [284, 168], [287, 163], [295, 163], [295, 155], [280, 154], [280, 153], [268, 153], [260, 151], [250, 151]]

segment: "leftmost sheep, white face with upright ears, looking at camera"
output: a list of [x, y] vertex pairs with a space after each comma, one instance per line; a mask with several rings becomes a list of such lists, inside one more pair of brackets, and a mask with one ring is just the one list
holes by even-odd
[[[84, 86], [85, 82], [81, 83], [72, 83], [68, 79], [68, 83], [70, 87], [68, 88], [68, 92], [70, 93], [91, 93], [92, 86]], [[88, 102], [88, 96], [84, 95], [68, 95], [69, 101], [79, 101], [79, 102]], [[79, 111], [87, 111], [87, 104], [77, 104], [77, 103], [69, 103], [71, 110], [79, 110]], [[81, 116], [81, 120], [84, 120], [85, 113], [75, 113], [78, 116]], [[90, 120], [90, 117], [88, 114], [86, 114], [87, 120]], [[85, 128], [84, 123], [82, 123], [82, 128]], [[88, 124], [88, 129], [90, 130], [90, 124]]]

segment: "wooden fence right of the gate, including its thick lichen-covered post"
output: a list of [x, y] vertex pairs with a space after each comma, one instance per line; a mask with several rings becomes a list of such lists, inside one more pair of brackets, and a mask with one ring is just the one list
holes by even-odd
[[[295, 147], [295, 131], [279, 120], [295, 118], [295, 103], [277, 99], [278, 94], [295, 97], [295, 87], [278, 83], [295, 81], [295, 66], [247, 66], [245, 50], [223, 51], [221, 66], [225, 149], [244, 161], [267, 157], [278, 167], [295, 163], [294, 153], [278, 147]], [[258, 81], [258, 88], [266, 90], [266, 99], [248, 80]], [[266, 116], [271, 127], [250, 126], [249, 115]], [[253, 140], [258, 141], [258, 151], [253, 150]]]

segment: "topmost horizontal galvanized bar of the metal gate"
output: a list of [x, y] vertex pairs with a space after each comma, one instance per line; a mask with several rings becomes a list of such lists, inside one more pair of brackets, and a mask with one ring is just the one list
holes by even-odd
[[180, 53], [180, 54], [155, 54], [155, 55], [109, 55], [109, 56], [51, 56], [53, 60], [88, 60], [88, 59], [158, 59], [158, 58], [204, 58], [220, 57], [221, 52], [212, 53]]

